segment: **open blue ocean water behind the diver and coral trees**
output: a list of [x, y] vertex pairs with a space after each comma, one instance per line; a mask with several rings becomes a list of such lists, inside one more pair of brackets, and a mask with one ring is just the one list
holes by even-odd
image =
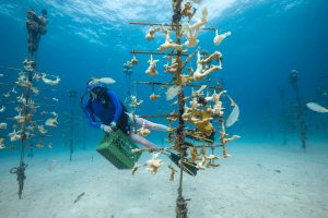
[[[47, 9], [47, 34], [42, 36], [37, 51], [37, 70], [47, 74], [58, 75], [61, 82], [57, 86], [49, 86], [38, 82], [38, 87], [55, 88], [56, 92], [42, 92], [37, 102], [54, 104], [55, 107], [42, 107], [42, 110], [56, 111], [58, 121], [65, 120], [63, 112], [74, 109], [79, 116], [84, 118], [79, 102], [85, 93], [86, 82], [90, 77], [112, 77], [115, 84], [107, 85], [114, 90], [121, 101], [127, 98], [127, 76], [124, 73], [124, 63], [132, 59], [132, 49], [141, 51], [156, 51], [164, 43], [164, 34], [156, 33], [155, 39], [148, 41], [144, 36], [149, 26], [130, 25], [129, 22], [154, 22], [169, 23], [172, 16], [172, 1], [131, 1], [131, 0], [0, 0], [0, 65], [22, 69], [24, 55], [27, 55], [27, 32], [25, 28], [25, 12], [33, 7], [40, 15], [43, 9]], [[201, 50], [209, 53], [220, 51], [223, 55], [222, 70], [211, 74], [214, 78], [224, 81], [223, 88], [234, 99], [241, 109], [238, 121], [227, 132], [237, 134], [243, 143], [272, 143], [283, 145], [283, 135], [279, 132], [279, 113], [282, 101], [279, 96], [278, 86], [285, 90], [285, 101], [294, 101], [295, 93], [288, 78], [289, 73], [295, 69], [300, 72], [300, 96], [305, 102], [316, 101], [327, 106], [328, 97], [318, 98], [317, 87], [328, 89], [328, 72], [326, 68], [328, 58], [328, 26], [327, 9], [325, 0], [203, 0], [195, 4], [197, 13], [208, 5], [208, 24], [206, 26], [219, 28], [219, 34], [231, 32], [220, 46], [214, 46], [214, 31], [201, 29], [198, 36]], [[185, 22], [186, 19], [183, 19]], [[191, 24], [195, 20], [191, 21]], [[171, 38], [176, 39], [175, 33]], [[186, 41], [185, 37], [183, 41]], [[188, 53], [194, 52], [197, 47], [188, 48]], [[160, 60], [156, 65], [159, 75], [150, 77], [145, 74], [150, 59], [149, 55], [137, 55], [138, 65], [133, 65], [131, 82], [167, 82], [171, 74], [164, 73], [166, 59], [154, 56]], [[216, 63], [216, 62], [215, 62]], [[189, 66], [189, 64], [188, 64]], [[192, 59], [192, 68], [196, 70], [196, 58]], [[0, 69], [1, 83], [13, 84], [17, 78], [19, 71]], [[188, 73], [184, 70], [184, 73]], [[203, 81], [206, 84], [207, 82]], [[198, 83], [200, 84], [200, 83]], [[1, 86], [1, 94], [8, 93], [12, 87]], [[68, 89], [78, 90], [74, 107], [70, 105]], [[155, 94], [160, 86], [155, 86]], [[143, 100], [139, 114], [161, 114], [163, 105], [168, 110], [177, 98], [172, 100], [157, 99], [152, 101], [150, 85], [130, 86], [131, 92], [138, 100]], [[186, 88], [185, 95], [190, 95], [191, 89]], [[14, 95], [1, 100], [14, 100]], [[44, 99], [47, 97], [48, 99]], [[58, 98], [58, 102], [51, 98]], [[165, 98], [165, 97], [164, 97]], [[270, 114], [265, 105], [265, 99], [270, 100]], [[14, 117], [16, 112], [12, 109], [16, 105], [5, 105], [7, 110], [0, 117]], [[233, 107], [226, 99], [225, 117], [227, 118]], [[39, 111], [42, 111], [39, 110]], [[317, 143], [328, 145], [327, 113], [315, 113], [308, 110], [313, 117], [311, 125], [317, 134], [308, 135], [307, 149], [315, 149]], [[40, 116], [48, 119], [49, 116]], [[168, 124], [166, 119], [151, 119], [153, 122]], [[13, 121], [8, 121], [8, 130], [1, 130], [1, 135], [12, 132]], [[176, 124], [175, 124], [176, 126]], [[62, 146], [62, 132], [59, 128], [49, 130], [51, 138], [45, 138], [45, 145], [54, 144], [52, 150], [36, 150], [38, 154], [58, 153], [69, 148]], [[271, 137], [272, 135], [273, 137]], [[94, 150], [104, 136], [102, 130], [86, 126], [86, 152], [75, 147], [75, 154]], [[151, 134], [148, 140], [162, 146], [161, 133]], [[215, 136], [219, 140], [219, 134]], [[294, 142], [295, 149], [301, 149], [301, 141], [296, 132], [289, 135], [289, 141]], [[219, 141], [218, 141], [219, 142]], [[236, 143], [235, 141], [234, 143]], [[0, 157], [13, 156], [19, 161], [20, 141], [11, 143], [8, 138], [4, 144], [15, 145], [16, 149], [0, 150]], [[141, 147], [141, 146], [140, 146]], [[60, 153], [61, 154], [61, 153]], [[74, 154], [73, 154], [74, 156]], [[1, 193], [0, 193], [1, 194]]]

